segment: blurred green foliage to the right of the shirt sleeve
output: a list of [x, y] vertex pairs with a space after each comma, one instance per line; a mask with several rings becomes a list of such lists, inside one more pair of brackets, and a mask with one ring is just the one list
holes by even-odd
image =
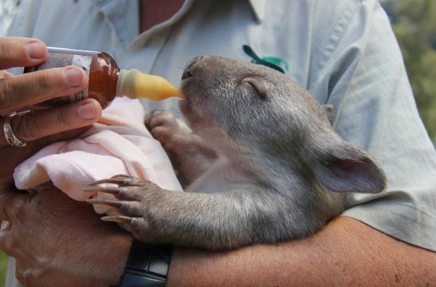
[[398, 39], [416, 104], [436, 143], [436, 1], [390, 0], [383, 3]]

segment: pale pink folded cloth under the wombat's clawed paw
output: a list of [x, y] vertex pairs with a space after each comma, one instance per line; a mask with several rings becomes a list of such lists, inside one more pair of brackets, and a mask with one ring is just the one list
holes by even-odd
[[[50, 144], [18, 165], [17, 188], [38, 190], [51, 181], [71, 198], [83, 201], [92, 195], [82, 190], [90, 182], [126, 174], [182, 191], [166, 152], [146, 129], [144, 115], [139, 100], [115, 99], [100, 121], [78, 139]], [[94, 208], [111, 213], [103, 205]]]

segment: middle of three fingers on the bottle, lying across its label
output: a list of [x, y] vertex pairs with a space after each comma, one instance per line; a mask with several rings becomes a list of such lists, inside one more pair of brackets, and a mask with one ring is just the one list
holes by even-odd
[[87, 78], [81, 68], [67, 66], [0, 79], [0, 114], [74, 94], [86, 87]]

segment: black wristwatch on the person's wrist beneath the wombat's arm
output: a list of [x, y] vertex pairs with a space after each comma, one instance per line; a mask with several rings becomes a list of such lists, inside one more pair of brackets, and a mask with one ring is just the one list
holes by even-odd
[[120, 283], [115, 287], [165, 287], [171, 245], [152, 245], [133, 238]]

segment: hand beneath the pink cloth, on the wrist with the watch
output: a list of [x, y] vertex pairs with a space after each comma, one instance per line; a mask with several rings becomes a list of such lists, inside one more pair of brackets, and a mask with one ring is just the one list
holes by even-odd
[[15, 257], [25, 286], [109, 286], [123, 273], [131, 234], [59, 189], [3, 189], [0, 218], [10, 223], [2, 224], [0, 249]]

